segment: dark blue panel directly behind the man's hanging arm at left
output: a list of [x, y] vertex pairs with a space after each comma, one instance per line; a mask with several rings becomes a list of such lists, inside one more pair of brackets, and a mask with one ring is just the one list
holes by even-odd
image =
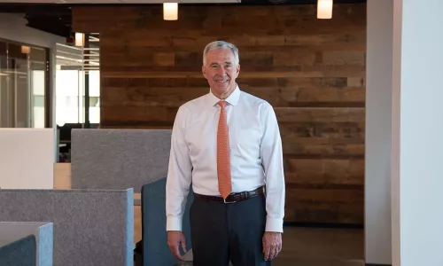
[[[145, 184], [142, 192], [142, 223], [144, 244], [144, 266], [171, 266], [177, 260], [171, 254], [167, 246], [166, 231], [166, 180], [162, 178], [151, 184]], [[183, 215], [183, 234], [186, 238], [186, 247], [190, 249], [190, 206], [192, 204], [193, 192], [186, 200]]]

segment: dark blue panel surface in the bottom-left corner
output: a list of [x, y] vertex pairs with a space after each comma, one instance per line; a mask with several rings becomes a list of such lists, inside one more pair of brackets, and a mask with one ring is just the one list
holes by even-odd
[[35, 235], [0, 245], [0, 265], [2, 266], [35, 266]]

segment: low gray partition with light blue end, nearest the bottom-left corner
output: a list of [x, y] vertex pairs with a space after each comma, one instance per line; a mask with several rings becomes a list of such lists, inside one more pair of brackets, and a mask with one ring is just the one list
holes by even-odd
[[[0, 222], [0, 246], [14, 240], [35, 236], [36, 266], [52, 266], [53, 264], [53, 223], [39, 222]], [[0, 263], [0, 265], [3, 265]]]

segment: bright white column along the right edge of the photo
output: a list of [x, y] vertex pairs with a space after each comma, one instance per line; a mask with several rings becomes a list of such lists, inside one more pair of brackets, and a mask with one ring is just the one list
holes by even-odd
[[392, 259], [443, 265], [443, 1], [394, 0]]

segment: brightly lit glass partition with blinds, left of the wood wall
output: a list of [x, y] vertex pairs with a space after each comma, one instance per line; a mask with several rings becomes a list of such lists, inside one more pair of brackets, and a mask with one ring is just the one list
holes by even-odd
[[[100, 123], [98, 34], [84, 46], [57, 43], [56, 122], [58, 127], [97, 128]], [[88, 112], [87, 112], [88, 110]]]

